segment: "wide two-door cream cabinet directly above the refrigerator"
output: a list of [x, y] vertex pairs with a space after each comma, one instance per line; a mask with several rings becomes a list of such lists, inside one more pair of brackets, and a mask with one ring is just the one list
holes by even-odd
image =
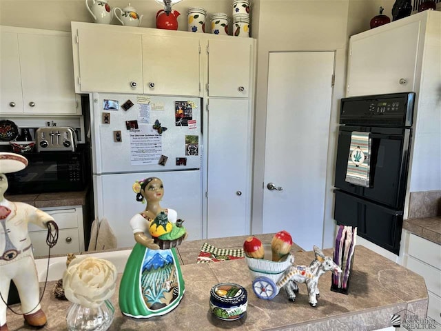
[[200, 41], [185, 34], [72, 22], [75, 91], [199, 97]]

